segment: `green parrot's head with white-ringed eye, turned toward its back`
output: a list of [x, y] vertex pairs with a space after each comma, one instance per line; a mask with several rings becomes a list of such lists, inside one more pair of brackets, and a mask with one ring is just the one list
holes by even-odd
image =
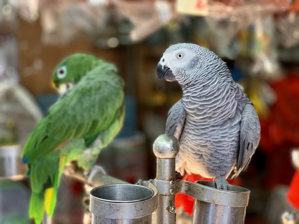
[[60, 94], [70, 90], [100, 60], [95, 56], [77, 53], [63, 59], [54, 70], [53, 84]]

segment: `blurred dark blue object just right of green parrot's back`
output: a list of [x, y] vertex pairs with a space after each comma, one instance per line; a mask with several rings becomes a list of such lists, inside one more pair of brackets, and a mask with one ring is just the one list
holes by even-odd
[[138, 113], [137, 113], [137, 100], [133, 95], [125, 96], [125, 119], [123, 121], [123, 127], [116, 136], [116, 138], [123, 138], [132, 136], [137, 133], [138, 130]]

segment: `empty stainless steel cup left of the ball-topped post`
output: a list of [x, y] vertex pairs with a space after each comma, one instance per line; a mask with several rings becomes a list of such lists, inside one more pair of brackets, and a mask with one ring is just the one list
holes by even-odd
[[90, 191], [92, 224], [151, 224], [157, 191], [142, 185], [110, 184]]

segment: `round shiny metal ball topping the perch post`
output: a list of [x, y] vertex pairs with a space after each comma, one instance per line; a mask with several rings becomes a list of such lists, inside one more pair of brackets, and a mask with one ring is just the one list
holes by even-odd
[[176, 158], [180, 150], [178, 139], [170, 134], [162, 134], [156, 138], [153, 151], [156, 157], [160, 159]]

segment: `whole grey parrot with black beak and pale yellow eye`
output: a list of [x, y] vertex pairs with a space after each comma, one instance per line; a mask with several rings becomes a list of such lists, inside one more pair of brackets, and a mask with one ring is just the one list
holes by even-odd
[[180, 143], [176, 171], [214, 178], [227, 190], [227, 178], [248, 165], [260, 141], [257, 113], [212, 51], [181, 43], [166, 49], [157, 65], [159, 79], [178, 81], [183, 97], [170, 108], [167, 134]]

